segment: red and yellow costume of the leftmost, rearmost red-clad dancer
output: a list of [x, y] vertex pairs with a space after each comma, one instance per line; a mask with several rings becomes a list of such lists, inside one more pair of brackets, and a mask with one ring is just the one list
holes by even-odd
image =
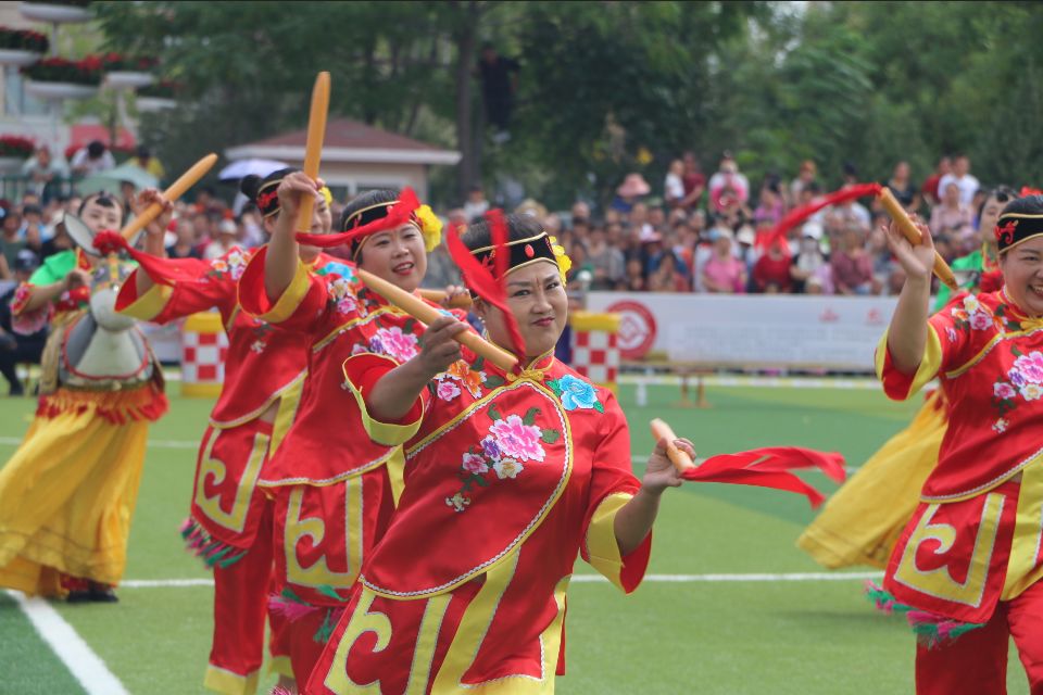
[[[147, 271], [155, 285], [139, 296], [131, 276], [117, 303], [124, 314], [158, 324], [216, 308], [228, 334], [226, 378], [203, 434], [183, 534], [214, 570], [214, 639], [205, 684], [229, 694], [256, 690], [274, 552], [273, 504], [257, 481], [293, 421], [307, 368], [299, 337], [239, 308], [238, 280], [250, 255], [234, 248], [212, 262], [143, 261], [137, 273]], [[341, 265], [319, 256], [307, 270]], [[268, 618], [273, 669], [290, 675], [285, 619]]]

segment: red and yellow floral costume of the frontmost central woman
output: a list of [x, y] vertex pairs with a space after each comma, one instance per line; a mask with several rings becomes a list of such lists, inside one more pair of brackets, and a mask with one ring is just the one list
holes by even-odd
[[[394, 364], [344, 364], [360, 407]], [[405, 490], [304, 692], [553, 692], [577, 555], [630, 592], [651, 549], [620, 557], [615, 538], [640, 488], [615, 397], [550, 355], [519, 375], [468, 356], [406, 425], [363, 416], [405, 443]]]

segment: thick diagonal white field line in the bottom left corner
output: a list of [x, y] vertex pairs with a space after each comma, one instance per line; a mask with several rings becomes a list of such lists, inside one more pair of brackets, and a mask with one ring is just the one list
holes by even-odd
[[18, 604], [65, 668], [79, 681], [87, 695], [128, 695], [120, 679], [49, 603], [42, 598], [26, 598], [16, 591], [9, 591], [8, 594]]

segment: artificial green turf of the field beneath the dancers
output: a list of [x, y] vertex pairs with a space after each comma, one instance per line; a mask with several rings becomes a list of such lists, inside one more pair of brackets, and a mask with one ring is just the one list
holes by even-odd
[[[176, 384], [174, 386], [176, 389]], [[633, 388], [620, 402], [636, 456], [652, 448], [648, 420], [666, 418], [702, 455], [771, 444], [843, 453], [859, 465], [904, 427], [917, 403], [877, 391], [709, 388], [713, 407], [674, 407], [676, 387], [651, 387], [645, 407]], [[128, 579], [208, 577], [181, 547], [196, 451], [211, 406], [172, 399], [150, 432], [151, 447], [130, 534]], [[0, 437], [21, 437], [33, 404], [0, 402]], [[14, 450], [0, 445], [0, 458]], [[640, 469], [640, 466], [639, 466]], [[829, 485], [814, 478], [824, 490]], [[805, 502], [774, 491], [686, 485], [669, 491], [655, 530], [650, 572], [821, 571], [794, 547], [814, 518]], [[577, 572], [591, 570], [582, 563]], [[59, 605], [131, 693], [202, 692], [213, 590], [122, 589], [115, 606]], [[876, 614], [856, 580], [833, 582], [654, 583], [624, 597], [608, 584], [575, 583], [568, 595], [567, 666], [557, 688], [590, 693], [908, 693], [913, 637], [899, 618]], [[1009, 692], [1028, 693], [1011, 653]], [[21, 611], [0, 595], [0, 693], [77, 693]], [[274, 679], [268, 677], [265, 683]]]

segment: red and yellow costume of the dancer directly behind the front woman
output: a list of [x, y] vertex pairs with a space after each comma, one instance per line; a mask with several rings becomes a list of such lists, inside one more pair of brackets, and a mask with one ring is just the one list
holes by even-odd
[[259, 480], [275, 500], [277, 604], [292, 618], [291, 659], [303, 684], [402, 488], [401, 451], [366, 435], [341, 365], [360, 352], [409, 359], [424, 326], [359, 285], [343, 264], [324, 276], [300, 265], [272, 303], [265, 255], [257, 253], [240, 280], [242, 307], [292, 334], [309, 362], [298, 416]]

